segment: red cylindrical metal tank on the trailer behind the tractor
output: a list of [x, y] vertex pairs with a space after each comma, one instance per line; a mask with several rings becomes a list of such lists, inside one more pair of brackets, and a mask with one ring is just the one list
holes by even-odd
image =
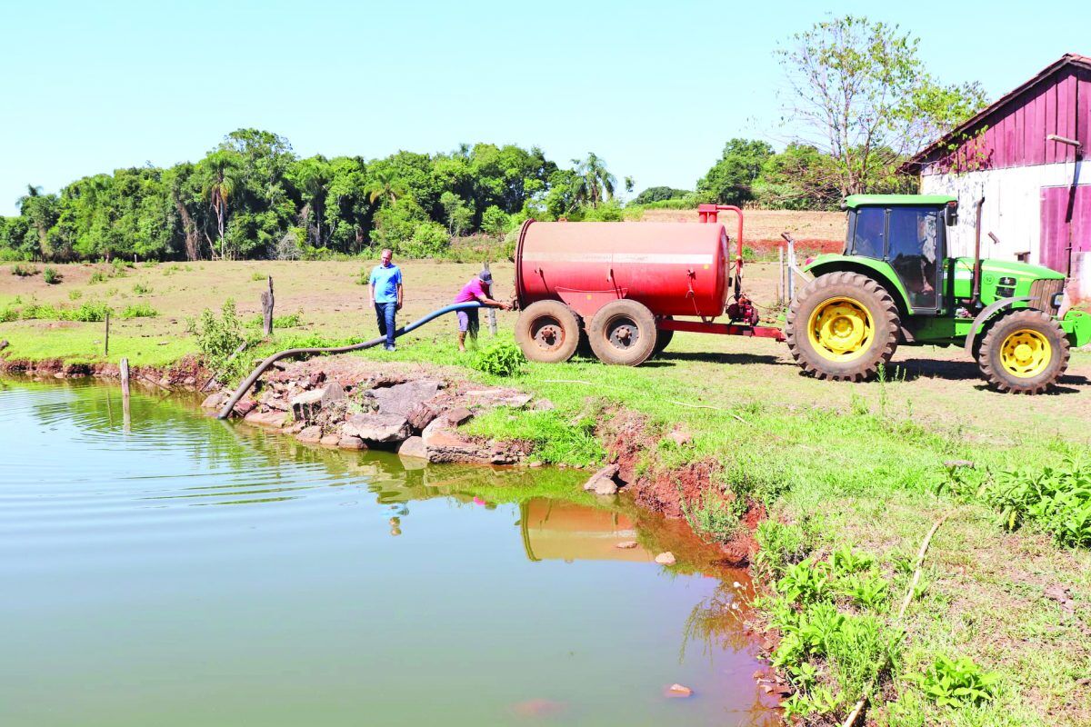
[[519, 305], [560, 300], [589, 319], [627, 298], [657, 316], [716, 317], [727, 300], [728, 235], [719, 222], [537, 222], [519, 233]]

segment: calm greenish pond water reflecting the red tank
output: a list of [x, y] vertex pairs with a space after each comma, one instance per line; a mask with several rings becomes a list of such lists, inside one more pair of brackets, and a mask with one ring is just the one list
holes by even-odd
[[771, 718], [744, 575], [679, 523], [568, 501], [576, 473], [408, 468], [0, 380], [0, 725]]

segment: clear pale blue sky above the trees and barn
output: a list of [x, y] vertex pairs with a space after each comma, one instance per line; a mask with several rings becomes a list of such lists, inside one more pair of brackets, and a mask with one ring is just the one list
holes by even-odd
[[826, 13], [898, 23], [992, 98], [1091, 54], [1091, 3], [49, 2], [3, 9], [0, 215], [26, 184], [196, 160], [240, 126], [303, 156], [594, 150], [637, 190], [692, 187], [732, 136], [780, 146], [774, 51]]

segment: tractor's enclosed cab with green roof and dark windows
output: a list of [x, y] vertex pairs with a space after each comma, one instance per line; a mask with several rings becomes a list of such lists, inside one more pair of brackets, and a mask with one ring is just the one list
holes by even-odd
[[958, 199], [946, 195], [854, 194], [844, 201], [849, 230], [844, 255], [887, 263], [920, 315], [944, 310], [947, 228], [958, 221]]

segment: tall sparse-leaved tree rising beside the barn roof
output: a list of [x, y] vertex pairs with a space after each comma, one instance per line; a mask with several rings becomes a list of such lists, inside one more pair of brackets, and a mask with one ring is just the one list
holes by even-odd
[[846, 15], [792, 36], [778, 51], [801, 144], [834, 160], [842, 196], [873, 191], [904, 158], [984, 106], [976, 83], [943, 86], [897, 25]]

